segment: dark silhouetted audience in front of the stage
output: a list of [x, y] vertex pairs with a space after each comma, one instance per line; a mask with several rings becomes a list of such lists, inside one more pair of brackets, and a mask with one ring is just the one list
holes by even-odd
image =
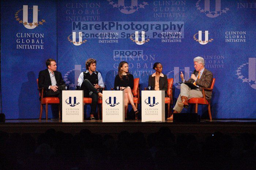
[[0, 169], [255, 169], [255, 135], [215, 132], [198, 140], [169, 128], [144, 136], [122, 131], [117, 139], [88, 129], [69, 134], [0, 131]]

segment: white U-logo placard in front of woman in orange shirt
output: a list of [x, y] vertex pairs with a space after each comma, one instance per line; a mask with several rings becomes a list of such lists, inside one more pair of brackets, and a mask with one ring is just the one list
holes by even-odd
[[142, 91], [142, 121], [165, 121], [165, 91]]

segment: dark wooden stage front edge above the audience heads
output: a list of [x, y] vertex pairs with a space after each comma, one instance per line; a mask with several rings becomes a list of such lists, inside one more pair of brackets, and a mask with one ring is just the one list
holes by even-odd
[[101, 120], [84, 120], [81, 123], [64, 123], [59, 120], [19, 119], [6, 120], [0, 123], [0, 131], [7, 133], [30, 133], [41, 134], [53, 128], [56, 131], [77, 134], [83, 129], [89, 129], [96, 134], [110, 134], [116, 136], [121, 131], [143, 132], [148, 135], [157, 132], [161, 127], [168, 127], [174, 135], [195, 134], [203, 136], [214, 132], [222, 132], [231, 136], [241, 133], [256, 135], [256, 119], [215, 119], [201, 120], [198, 123], [173, 123], [165, 122], [141, 122], [141, 120], [127, 120], [125, 122], [102, 122]]

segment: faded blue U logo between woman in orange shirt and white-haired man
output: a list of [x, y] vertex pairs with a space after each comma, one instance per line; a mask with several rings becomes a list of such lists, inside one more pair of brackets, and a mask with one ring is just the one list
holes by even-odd
[[170, 71], [166, 75], [167, 78], [173, 78], [173, 85], [177, 89], [180, 89], [180, 83], [178, 83], [178, 82], [181, 82], [181, 80], [180, 80], [181, 72], [184, 74], [185, 80], [189, 80], [190, 75], [192, 74], [189, 67], [185, 67], [184, 69], [180, 69], [180, 67], [174, 67], [174, 70]]

